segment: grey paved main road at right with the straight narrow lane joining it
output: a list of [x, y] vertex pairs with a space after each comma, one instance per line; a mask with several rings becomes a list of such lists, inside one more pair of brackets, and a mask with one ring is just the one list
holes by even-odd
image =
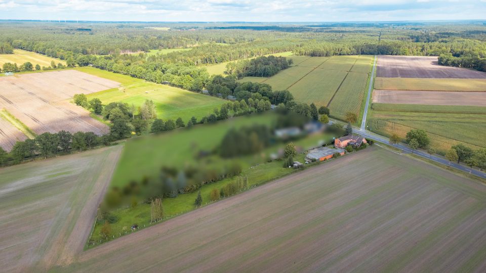
[[379, 135], [379, 134], [376, 134], [376, 133], [373, 133], [373, 132], [367, 130], [366, 127], [365, 127], [366, 126], [366, 117], [368, 115], [368, 106], [370, 104], [370, 97], [371, 97], [371, 92], [372, 92], [372, 87], [373, 87], [373, 79], [374, 79], [374, 76], [375, 76], [375, 69], [376, 69], [376, 55], [375, 55], [375, 60], [373, 62], [373, 70], [371, 72], [371, 80], [370, 80], [370, 86], [368, 88], [368, 97], [367, 97], [367, 100], [366, 100], [365, 112], [363, 113], [363, 120], [361, 122], [360, 128], [353, 127], [354, 132], [356, 132], [356, 133], [358, 133], [362, 136], [365, 136], [365, 138], [372, 139], [376, 142], [381, 142], [381, 143], [393, 146], [397, 149], [402, 150], [405, 153], [412, 153], [413, 152], [414, 154], [416, 154], [418, 156], [430, 159], [430, 160], [435, 161], [435, 162], [440, 163], [440, 164], [444, 164], [444, 165], [456, 168], [458, 170], [469, 172], [471, 174], [474, 174], [474, 175], [477, 175], [479, 177], [486, 179], [486, 173], [485, 172], [482, 172], [482, 171], [476, 170], [476, 169], [472, 169], [472, 168], [469, 168], [469, 167], [464, 166], [464, 165], [460, 165], [460, 164], [457, 164], [457, 163], [450, 162], [449, 160], [447, 160], [443, 157], [440, 157], [440, 156], [429, 155], [426, 152], [421, 151], [421, 150], [412, 151], [412, 149], [410, 149], [410, 147], [408, 147], [407, 145], [404, 145], [404, 144], [390, 144], [389, 139], [386, 138], [385, 136], [382, 136], [382, 135]]

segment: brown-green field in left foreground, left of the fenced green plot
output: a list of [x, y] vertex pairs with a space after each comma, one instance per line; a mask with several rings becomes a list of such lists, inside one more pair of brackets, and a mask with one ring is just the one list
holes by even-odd
[[83, 251], [121, 149], [0, 169], [0, 271], [43, 272]]

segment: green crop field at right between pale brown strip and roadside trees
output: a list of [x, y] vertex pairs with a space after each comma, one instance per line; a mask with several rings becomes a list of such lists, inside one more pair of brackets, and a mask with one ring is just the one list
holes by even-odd
[[404, 138], [411, 129], [423, 129], [431, 146], [442, 154], [458, 143], [473, 149], [486, 147], [482, 141], [485, 107], [373, 104], [372, 109], [368, 126], [377, 133]]

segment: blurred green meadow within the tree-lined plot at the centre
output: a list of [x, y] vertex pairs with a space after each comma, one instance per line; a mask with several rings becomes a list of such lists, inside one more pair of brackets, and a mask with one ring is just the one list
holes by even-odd
[[237, 117], [216, 124], [197, 125], [191, 129], [185, 128], [130, 140], [125, 145], [113, 174], [111, 186], [123, 187], [130, 180], [139, 180], [143, 175], [154, 177], [163, 165], [180, 166], [194, 163], [194, 156], [200, 149], [212, 151], [231, 127], [254, 123], [269, 125], [275, 118], [275, 115], [270, 114]]

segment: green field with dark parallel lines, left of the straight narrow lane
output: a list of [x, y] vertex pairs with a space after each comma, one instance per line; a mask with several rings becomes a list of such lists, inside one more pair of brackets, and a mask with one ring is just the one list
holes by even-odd
[[287, 89], [296, 101], [328, 106], [331, 116], [339, 119], [344, 119], [347, 112], [359, 116], [373, 56], [294, 57], [299, 59], [292, 67], [270, 78], [245, 77], [240, 81]]

